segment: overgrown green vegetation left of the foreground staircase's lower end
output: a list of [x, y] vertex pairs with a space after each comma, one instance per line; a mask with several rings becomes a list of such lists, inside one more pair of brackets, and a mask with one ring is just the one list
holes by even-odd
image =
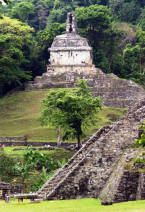
[[[72, 152], [69, 157], [72, 156]], [[67, 152], [61, 151], [56, 158], [57, 151], [50, 154], [38, 150], [27, 150], [23, 156], [10, 155], [0, 151], [0, 180], [10, 183], [21, 183], [24, 192], [38, 190], [58, 168], [62, 168], [68, 160]]]

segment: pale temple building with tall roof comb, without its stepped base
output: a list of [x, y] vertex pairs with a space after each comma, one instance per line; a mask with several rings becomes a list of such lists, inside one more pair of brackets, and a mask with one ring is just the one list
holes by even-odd
[[78, 35], [75, 15], [68, 13], [66, 34], [56, 36], [49, 48], [51, 68], [55, 71], [85, 71], [92, 66], [91, 50], [87, 39]]

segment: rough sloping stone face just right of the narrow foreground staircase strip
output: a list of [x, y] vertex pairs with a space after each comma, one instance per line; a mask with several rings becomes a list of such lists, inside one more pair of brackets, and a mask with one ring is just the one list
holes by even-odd
[[[145, 100], [94, 143], [91, 152], [48, 199], [98, 197], [125, 148], [134, 143], [145, 120]], [[59, 180], [59, 179], [58, 179]], [[117, 198], [117, 197], [116, 197]]]

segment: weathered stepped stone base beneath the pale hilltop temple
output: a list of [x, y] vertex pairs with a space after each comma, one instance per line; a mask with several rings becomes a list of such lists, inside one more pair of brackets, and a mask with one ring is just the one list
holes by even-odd
[[101, 96], [104, 105], [131, 107], [145, 98], [145, 91], [133, 81], [119, 79], [114, 74], [104, 74], [94, 66], [48, 66], [42, 77], [36, 77], [26, 89], [74, 87], [78, 78], [88, 80], [94, 96]]

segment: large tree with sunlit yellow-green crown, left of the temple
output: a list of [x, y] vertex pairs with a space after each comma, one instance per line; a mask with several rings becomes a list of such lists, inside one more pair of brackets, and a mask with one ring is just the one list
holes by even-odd
[[33, 29], [8, 17], [0, 19], [0, 94], [25, 80], [31, 72], [25, 69], [30, 62]]

